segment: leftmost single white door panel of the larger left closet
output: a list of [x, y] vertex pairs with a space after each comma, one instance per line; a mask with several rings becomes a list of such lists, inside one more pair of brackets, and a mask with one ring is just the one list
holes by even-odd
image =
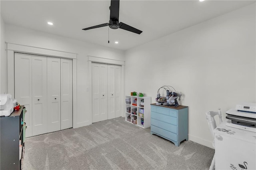
[[32, 136], [32, 58], [31, 55], [14, 53], [14, 98], [26, 107], [26, 137]]

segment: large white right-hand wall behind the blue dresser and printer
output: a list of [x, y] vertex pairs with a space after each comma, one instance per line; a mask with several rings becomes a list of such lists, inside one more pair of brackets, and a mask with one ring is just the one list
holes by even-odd
[[[162, 85], [189, 107], [189, 140], [212, 147], [206, 111], [256, 103], [255, 4], [186, 28], [125, 53], [125, 95], [155, 103]], [[162, 95], [165, 92], [162, 91]]]

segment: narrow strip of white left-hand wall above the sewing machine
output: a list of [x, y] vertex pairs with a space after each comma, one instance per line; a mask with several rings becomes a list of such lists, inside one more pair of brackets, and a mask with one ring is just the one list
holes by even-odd
[[4, 43], [4, 20], [0, 16], [0, 93], [7, 93], [6, 51]]

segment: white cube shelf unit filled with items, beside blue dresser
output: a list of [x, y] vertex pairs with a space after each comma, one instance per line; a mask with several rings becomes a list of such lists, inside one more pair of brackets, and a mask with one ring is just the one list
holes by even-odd
[[150, 127], [151, 97], [125, 96], [125, 121], [138, 127]]

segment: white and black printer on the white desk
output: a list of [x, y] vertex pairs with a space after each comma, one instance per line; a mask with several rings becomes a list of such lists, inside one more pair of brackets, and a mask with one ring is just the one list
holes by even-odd
[[226, 125], [256, 132], [256, 103], [241, 103], [226, 112]]

